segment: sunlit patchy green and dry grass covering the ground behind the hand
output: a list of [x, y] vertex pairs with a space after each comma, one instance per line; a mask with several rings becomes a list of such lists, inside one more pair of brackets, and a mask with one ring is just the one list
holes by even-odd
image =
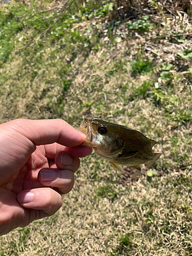
[[81, 159], [63, 207], [0, 238], [0, 255], [190, 255], [191, 58], [178, 55], [190, 38], [149, 41], [145, 33], [170, 32], [168, 20], [140, 18], [147, 29], [132, 30], [109, 22], [110, 2], [75, 1], [50, 28], [61, 8], [51, 2], [0, 7], [1, 123], [62, 118], [78, 129], [100, 116], [155, 139], [162, 156], [151, 182], [129, 185], [94, 153]]

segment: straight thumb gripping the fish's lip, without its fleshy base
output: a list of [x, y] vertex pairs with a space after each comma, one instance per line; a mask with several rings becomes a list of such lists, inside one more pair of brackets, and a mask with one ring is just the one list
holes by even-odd
[[10, 129], [28, 138], [34, 145], [57, 142], [64, 146], [80, 145], [86, 137], [62, 119], [29, 120], [15, 119], [8, 123]]

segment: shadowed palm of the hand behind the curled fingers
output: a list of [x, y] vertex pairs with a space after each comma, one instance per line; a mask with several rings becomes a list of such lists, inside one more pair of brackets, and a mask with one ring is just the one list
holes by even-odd
[[[50, 149], [50, 145], [48, 147]], [[51, 145], [51, 147], [52, 150], [55, 153], [57, 153], [57, 145], [53, 144]], [[59, 148], [61, 147], [63, 146], [59, 145]], [[29, 223], [31, 223], [34, 219], [49, 216], [48, 214], [46, 214], [46, 212], [42, 210], [24, 208], [17, 201], [17, 195], [22, 190], [44, 187], [38, 181], [39, 170], [44, 167], [56, 167], [55, 161], [49, 160], [46, 157], [46, 154], [49, 155], [49, 152], [46, 151], [46, 146], [37, 146], [35, 152], [32, 153], [26, 164], [22, 168], [20, 168], [20, 170], [17, 170], [14, 176], [14, 180], [11, 180], [9, 183], [6, 184], [7, 189], [2, 188], [4, 198], [6, 198], [6, 200], [9, 202], [9, 204], [4, 205], [4, 210], [7, 212], [11, 212], [13, 210], [12, 207], [14, 206], [14, 210], [17, 212], [17, 215], [22, 216], [22, 218], [20, 218], [19, 223], [17, 223], [16, 226], [26, 226]], [[2, 201], [0, 202], [1, 206], [1, 204], [3, 203], [3, 198], [2, 200], [0, 199], [0, 201]], [[14, 212], [12, 212], [12, 214], [14, 214]], [[12, 222], [10, 218], [10, 223], [9, 225], [6, 226], [6, 232], [9, 232], [10, 230], [16, 227], [11, 225]]]

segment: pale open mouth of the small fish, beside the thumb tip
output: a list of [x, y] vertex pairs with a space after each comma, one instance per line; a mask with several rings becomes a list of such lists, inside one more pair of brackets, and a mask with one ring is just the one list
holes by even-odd
[[94, 141], [96, 140], [96, 135], [94, 133], [90, 120], [84, 118], [84, 120], [80, 124], [79, 131], [86, 135], [86, 139], [81, 145], [93, 147]]

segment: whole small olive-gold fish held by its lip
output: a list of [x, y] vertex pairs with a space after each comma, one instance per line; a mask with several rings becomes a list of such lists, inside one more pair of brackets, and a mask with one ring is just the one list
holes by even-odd
[[99, 118], [84, 118], [79, 131], [86, 135], [81, 145], [92, 147], [97, 155], [109, 161], [120, 173], [123, 173], [122, 166], [141, 170], [140, 164], [146, 164], [150, 168], [161, 156], [161, 153], [152, 151], [157, 144], [155, 140], [123, 125]]

